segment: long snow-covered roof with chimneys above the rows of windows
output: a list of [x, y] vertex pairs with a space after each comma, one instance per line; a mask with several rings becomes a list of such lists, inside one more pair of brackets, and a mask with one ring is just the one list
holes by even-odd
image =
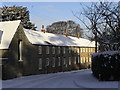
[[76, 38], [72, 36], [58, 35], [52, 33], [43, 33], [40, 31], [33, 31], [24, 29], [28, 40], [32, 44], [41, 45], [56, 45], [56, 46], [78, 46], [78, 47], [95, 47], [95, 42], [83, 38]]

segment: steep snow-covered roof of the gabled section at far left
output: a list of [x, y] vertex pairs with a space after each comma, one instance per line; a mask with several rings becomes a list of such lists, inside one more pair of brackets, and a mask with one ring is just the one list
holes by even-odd
[[0, 22], [0, 31], [2, 32], [0, 49], [8, 49], [19, 24], [20, 20]]

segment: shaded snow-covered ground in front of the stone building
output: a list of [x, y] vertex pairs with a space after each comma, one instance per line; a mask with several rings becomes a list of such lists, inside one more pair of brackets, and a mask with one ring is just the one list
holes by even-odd
[[119, 82], [98, 81], [90, 70], [59, 72], [3, 80], [3, 88], [118, 88]]

